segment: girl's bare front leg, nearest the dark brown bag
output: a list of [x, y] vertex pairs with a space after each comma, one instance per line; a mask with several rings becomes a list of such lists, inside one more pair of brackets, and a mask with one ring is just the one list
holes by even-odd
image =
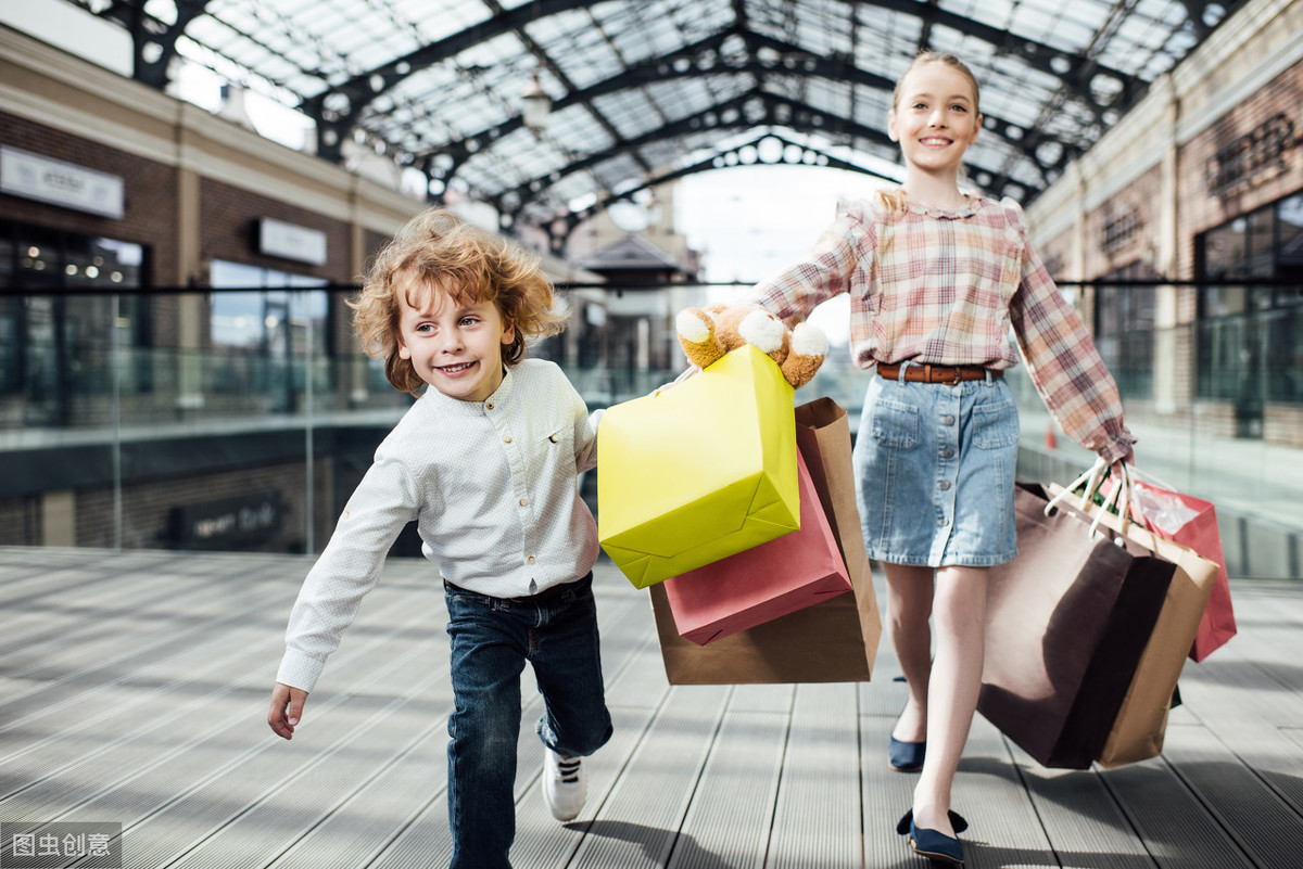
[[928, 683], [928, 755], [913, 788], [913, 818], [920, 829], [952, 836], [955, 831], [946, 816], [950, 787], [981, 689], [986, 568], [939, 568], [933, 618], [937, 654]]

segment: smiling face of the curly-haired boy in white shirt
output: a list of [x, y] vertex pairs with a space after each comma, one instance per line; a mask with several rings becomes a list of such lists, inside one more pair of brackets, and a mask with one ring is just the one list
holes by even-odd
[[431, 282], [399, 290], [399, 356], [448, 398], [489, 398], [502, 384], [502, 349], [515, 337], [493, 302], [457, 303]]

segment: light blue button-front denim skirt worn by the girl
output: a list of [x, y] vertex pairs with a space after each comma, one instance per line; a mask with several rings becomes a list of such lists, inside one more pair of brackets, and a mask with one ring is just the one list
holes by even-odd
[[988, 376], [952, 386], [874, 376], [855, 441], [869, 557], [893, 565], [986, 567], [1018, 554], [1018, 410]]

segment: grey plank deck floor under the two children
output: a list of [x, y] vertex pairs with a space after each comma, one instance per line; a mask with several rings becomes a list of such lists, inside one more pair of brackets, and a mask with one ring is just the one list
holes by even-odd
[[[446, 866], [430, 567], [391, 561], [285, 743], [267, 700], [309, 565], [0, 549], [0, 821], [121, 823], [133, 868]], [[670, 687], [646, 595], [605, 561], [594, 587], [615, 736], [560, 825], [526, 700], [517, 869], [926, 865], [894, 834], [915, 779], [886, 764], [904, 696], [886, 643], [866, 684]], [[1045, 770], [975, 721], [955, 784], [968, 866], [1299, 865], [1303, 585], [1233, 591], [1240, 634], [1187, 663], [1161, 758]]]

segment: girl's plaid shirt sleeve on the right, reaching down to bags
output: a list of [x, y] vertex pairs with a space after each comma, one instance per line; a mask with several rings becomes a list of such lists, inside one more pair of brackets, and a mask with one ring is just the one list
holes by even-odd
[[1106, 462], [1124, 458], [1136, 438], [1122, 424], [1118, 385], [1081, 317], [1027, 243], [1022, 209], [1010, 211], [1023, 238], [1023, 269], [1009, 315], [1032, 382], [1065, 434]]

